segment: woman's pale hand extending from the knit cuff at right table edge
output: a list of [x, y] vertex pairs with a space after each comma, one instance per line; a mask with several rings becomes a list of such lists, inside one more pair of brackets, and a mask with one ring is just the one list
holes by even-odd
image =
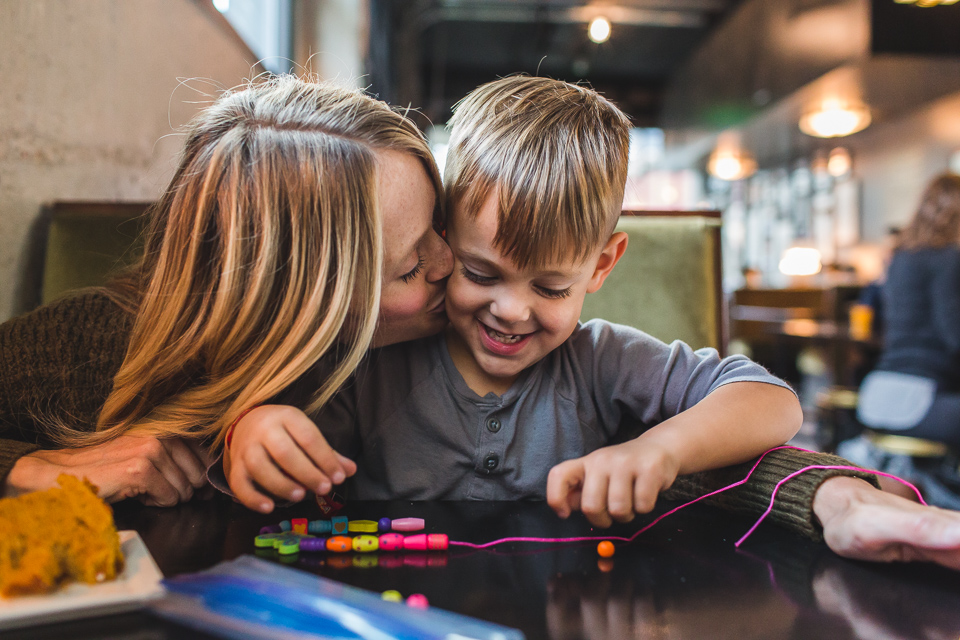
[[935, 562], [960, 570], [960, 512], [924, 507], [863, 480], [830, 478], [813, 512], [834, 552], [876, 562]]

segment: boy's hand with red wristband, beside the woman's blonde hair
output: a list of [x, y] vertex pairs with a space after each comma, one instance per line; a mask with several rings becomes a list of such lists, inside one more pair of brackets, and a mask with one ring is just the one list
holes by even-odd
[[263, 405], [234, 426], [223, 470], [240, 502], [270, 513], [276, 499], [299, 502], [307, 491], [328, 493], [357, 465], [334, 451], [303, 411]]

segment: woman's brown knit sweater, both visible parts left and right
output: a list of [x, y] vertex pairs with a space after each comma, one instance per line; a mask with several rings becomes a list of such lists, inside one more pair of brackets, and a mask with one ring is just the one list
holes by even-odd
[[[53, 416], [91, 430], [113, 385], [129, 341], [132, 317], [106, 296], [87, 293], [54, 302], [0, 325], [0, 485], [16, 461], [52, 448], [35, 416]], [[768, 454], [750, 482], [712, 499], [726, 509], [759, 515], [773, 486], [808, 465], [849, 464], [842, 458], [795, 450]], [[692, 499], [741, 480], [752, 463], [678, 478], [665, 497]], [[841, 470], [814, 470], [787, 482], [771, 518], [797, 533], [820, 537], [813, 495], [835, 475], [876, 477]]]

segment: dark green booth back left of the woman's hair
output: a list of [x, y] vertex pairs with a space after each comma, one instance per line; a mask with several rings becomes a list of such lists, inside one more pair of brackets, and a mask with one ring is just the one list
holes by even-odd
[[40, 302], [74, 289], [104, 284], [142, 252], [143, 213], [149, 203], [58, 202], [47, 215]]

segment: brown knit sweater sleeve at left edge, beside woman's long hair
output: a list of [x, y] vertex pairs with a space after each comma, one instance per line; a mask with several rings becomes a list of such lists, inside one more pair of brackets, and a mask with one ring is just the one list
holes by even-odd
[[100, 293], [0, 325], [0, 486], [21, 457], [54, 448], [42, 423], [92, 430], [113, 387], [132, 317]]

